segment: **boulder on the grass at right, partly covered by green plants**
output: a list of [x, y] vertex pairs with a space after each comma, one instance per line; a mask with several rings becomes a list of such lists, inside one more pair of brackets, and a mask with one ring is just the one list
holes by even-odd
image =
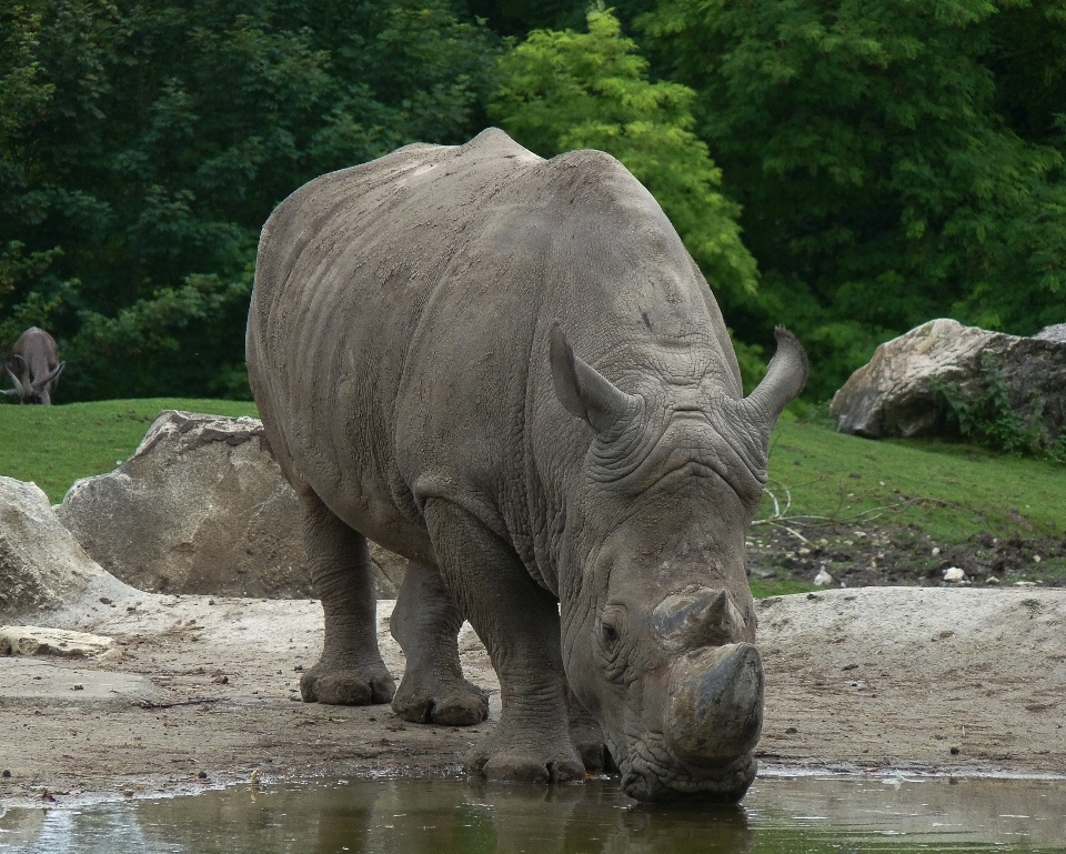
[[[1060, 324], [1062, 325], [1062, 324]], [[1066, 428], [1066, 341], [1058, 326], [1018, 338], [932, 320], [877, 348], [834, 395], [829, 412], [844, 433], [882, 436], [949, 435], [934, 391], [936, 381], [957, 384], [964, 399], [987, 389], [990, 356], [1003, 375], [1012, 406], [1024, 418], [1039, 413], [1045, 435]]]

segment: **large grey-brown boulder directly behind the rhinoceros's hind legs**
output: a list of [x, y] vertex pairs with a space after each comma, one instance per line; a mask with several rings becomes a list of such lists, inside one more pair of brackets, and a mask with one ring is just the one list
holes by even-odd
[[[314, 595], [300, 502], [258, 419], [167, 410], [121, 466], [76, 482], [58, 514], [101, 566], [144, 591]], [[378, 593], [394, 597], [403, 562], [384, 555]]]

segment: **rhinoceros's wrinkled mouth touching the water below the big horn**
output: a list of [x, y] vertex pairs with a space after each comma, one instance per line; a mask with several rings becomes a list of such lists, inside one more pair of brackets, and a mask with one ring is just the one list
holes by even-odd
[[751, 753], [721, 767], [681, 763], [666, 768], [642, 762], [628, 763], [622, 791], [637, 801], [717, 801], [735, 803], [755, 780], [758, 763]]

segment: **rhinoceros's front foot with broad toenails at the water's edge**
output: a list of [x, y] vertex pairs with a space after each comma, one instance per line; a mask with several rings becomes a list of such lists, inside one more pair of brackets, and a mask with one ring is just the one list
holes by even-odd
[[466, 754], [470, 774], [509, 783], [567, 783], [585, 777], [585, 766], [569, 739], [544, 744], [504, 734], [503, 723]]

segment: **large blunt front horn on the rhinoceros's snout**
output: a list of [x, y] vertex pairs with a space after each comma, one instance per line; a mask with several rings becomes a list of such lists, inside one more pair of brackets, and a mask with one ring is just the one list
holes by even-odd
[[748, 753], [763, 726], [763, 663], [750, 643], [690, 653], [670, 676], [663, 733], [675, 755], [724, 765]]

